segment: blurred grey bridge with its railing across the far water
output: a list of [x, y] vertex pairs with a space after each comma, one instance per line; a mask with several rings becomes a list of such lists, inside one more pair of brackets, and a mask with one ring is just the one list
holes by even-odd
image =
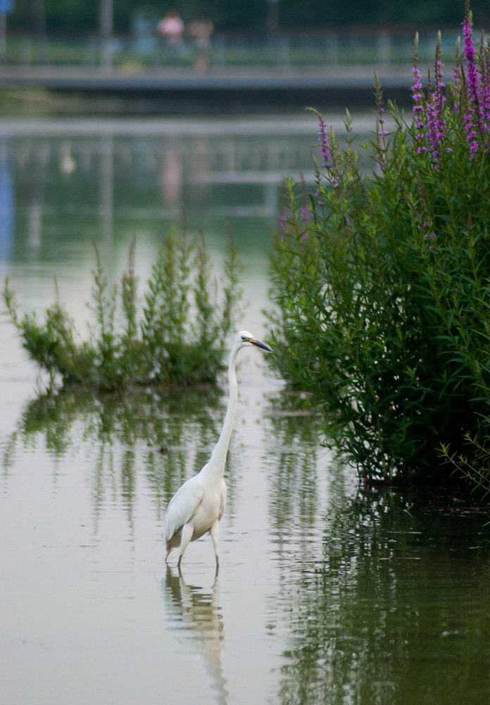
[[[420, 37], [419, 61], [434, 62], [435, 31]], [[457, 35], [444, 35], [443, 60], [453, 63]], [[146, 98], [145, 110], [244, 112], [306, 104], [372, 104], [374, 73], [386, 97], [407, 104], [414, 34], [365, 27], [337, 32], [218, 33], [200, 46], [182, 37], [165, 44], [153, 24], [132, 35], [35, 37], [17, 33], [0, 42], [0, 87]], [[427, 71], [423, 72], [427, 75]], [[148, 102], [149, 101], [149, 102]]]

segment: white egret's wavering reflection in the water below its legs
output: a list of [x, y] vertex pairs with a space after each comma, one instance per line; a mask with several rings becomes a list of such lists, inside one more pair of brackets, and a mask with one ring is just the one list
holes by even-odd
[[188, 640], [194, 647], [211, 677], [217, 694], [216, 702], [227, 705], [228, 691], [221, 666], [225, 631], [218, 580], [217, 576], [211, 590], [187, 585], [182, 573], [174, 575], [167, 565], [167, 574], [162, 579], [162, 594], [176, 636], [182, 642]]

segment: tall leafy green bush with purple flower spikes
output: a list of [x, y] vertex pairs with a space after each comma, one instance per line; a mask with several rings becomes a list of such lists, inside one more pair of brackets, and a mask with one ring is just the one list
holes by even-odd
[[341, 148], [318, 114], [317, 192], [306, 207], [289, 181], [275, 237], [275, 364], [369, 479], [448, 479], [443, 444], [485, 472], [465, 434], [485, 433], [490, 400], [490, 49], [468, 11], [463, 33], [447, 89], [440, 38], [427, 91], [415, 43], [413, 113], [389, 104], [390, 132], [376, 80], [372, 173], [349, 116]]

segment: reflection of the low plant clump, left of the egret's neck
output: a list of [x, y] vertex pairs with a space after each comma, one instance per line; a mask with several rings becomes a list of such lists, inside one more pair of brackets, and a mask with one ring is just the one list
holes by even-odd
[[[216, 412], [216, 413], [215, 413]], [[65, 390], [32, 400], [6, 444], [4, 468], [15, 446], [31, 447], [43, 436], [46, 450], [63, 458], [87, 443], [92, 463], [94, 506], [98, 513], [120, 466], [120, 493], [128, 508], [135, 477], [144, 468], [158, 515], [177, 487], [208, 460], [222, 422], [220, 390], [137, 390], [125, 394]], [[233, 483], [228, 480], [230, 489]], [[231, 486], [230, 486], [231, 484]]]

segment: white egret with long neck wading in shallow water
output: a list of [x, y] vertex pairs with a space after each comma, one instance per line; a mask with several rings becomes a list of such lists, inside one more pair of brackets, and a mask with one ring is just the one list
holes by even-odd
[[209, 532], [213, 539], [216, 556], [216, 574], [220, 568], [220, 519], [226, 503], [226, 484], [223, 479], [225, 462], [232, 435], [235, 410], [237, 408], [238, 384], [235, 374], [237, 355], [241, 348], [261, 348], [271, 352], [268, 345], [260, 343], [248, 331], [239, 331], [235, 338], [230, 362], [228, 364], [228, 382], [230, 396], [218, 443], [211, 458], [203, 469], [194, 477], [184, 482], [168, 503], [163, 524], [163, 544], [167, 548], [168, 559], [172, 548], [180, 548], [177, 567], [190, 541], [196, 541]]

